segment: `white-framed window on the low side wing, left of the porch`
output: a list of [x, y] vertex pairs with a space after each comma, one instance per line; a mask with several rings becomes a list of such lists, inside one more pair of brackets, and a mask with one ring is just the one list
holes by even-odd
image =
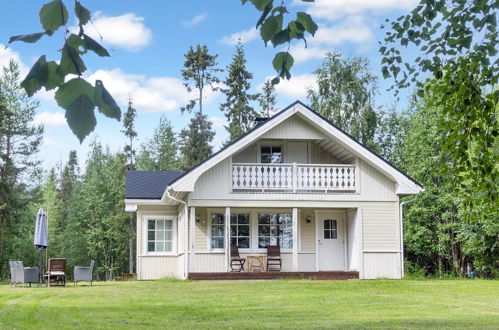
[[147, 252], [173, 252], [173, 219], [147, 220]]

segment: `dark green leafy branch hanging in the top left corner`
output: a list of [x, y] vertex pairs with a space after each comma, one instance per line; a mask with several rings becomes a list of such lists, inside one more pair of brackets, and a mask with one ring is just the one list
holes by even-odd
[[[92, 86], [82, 78], [87, 70], [82, 55], [89, 50], [101, 57], [110, 55], [102, 45], [85, 34], [83, 26], [90, 21], [91, 14], [78, 0], [75, 0], [74, 13], [78, 18], [78, 34], [71, 33], [66, 27], [69, 14], [64, 2], [50, 1], [42, 6], [39, 13], [44, 31], [12, 36], [9, 44], [15, 41], [35, 43], [43, 36], [53, 36], [61, 27], [65, 27], [59, 64], [56, 61], [47, 61], [46, 55], [40, 56], [21, 86], [29, 96], [33, 96], [42, 87], [47, 91], [56, 89], [55, 100], [66, 110], [68, 125], [81, 143], [97, 124], [95, 107], [105, 116], [118, 121], [121, 110], [102, 81], [97, 80]], [[71, 75], [77, 77], [71, 78]]]

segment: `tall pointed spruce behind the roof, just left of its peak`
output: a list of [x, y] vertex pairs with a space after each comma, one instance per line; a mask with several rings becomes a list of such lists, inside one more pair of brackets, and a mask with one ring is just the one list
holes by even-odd
[[248, 93], [251, 87], [250, 80], [253, 74], [246, 69], [246, 57], [241, 42], [236, 45], [236, 52], [232, 63], [227, 66], [227, 78], [224, 81], [225, 102], [220, 105], [220, 110], [225, 114], [229, 126], [226, 127], [230, 141], [234, 141], [246, 133], [253, 125], [256, 111], [249, 105], [256, 99], [256, 95]]

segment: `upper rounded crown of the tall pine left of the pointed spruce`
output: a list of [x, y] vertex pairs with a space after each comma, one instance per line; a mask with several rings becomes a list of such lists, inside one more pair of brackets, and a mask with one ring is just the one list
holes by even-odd
[[208, 47], [206, 45], [196, 46], [194, 48], [189, 47], [189, 50], [184, 55], [184, 68], [180, 70], [182, 78], [184, 79], [184, 86], [187, 88], [188, 92], [196, 89], [198, 92], [198, 97], [189, 101], [189, 103], [182, 107], [182, 112], [191, 112], [199, 104], [199, 113], [203, 113], [203, 91], [205, 87], [209, 87], [212, 91], [218, 90], [216, 84], [220, 82], [217, 78], [216, 73], [221, 72], [222, 69], [218, 69], [216, 66], [218, 55], [210, 55], [208, 53]]

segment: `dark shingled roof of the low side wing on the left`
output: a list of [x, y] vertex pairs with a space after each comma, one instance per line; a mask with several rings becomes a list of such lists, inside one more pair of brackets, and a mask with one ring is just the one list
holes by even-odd
[[126, 199], [161, 199], [166, 187], [181, 176], [182, 171], [126, 172]]

